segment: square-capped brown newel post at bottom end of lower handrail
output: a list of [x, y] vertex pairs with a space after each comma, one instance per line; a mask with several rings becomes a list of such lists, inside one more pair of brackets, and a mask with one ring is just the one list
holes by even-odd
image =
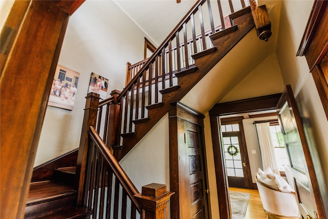
[[141, 193], [134, 195], [142, 208], [141, 218], [168, 219], [169, 201], [174, 192], [166, 190], [166, 185], [152, 183], [142, 186]]

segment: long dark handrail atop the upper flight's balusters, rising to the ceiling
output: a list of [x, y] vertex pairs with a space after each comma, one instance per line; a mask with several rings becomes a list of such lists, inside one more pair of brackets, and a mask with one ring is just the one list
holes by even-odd
[[175, 33], [182, 29], [182, 24], [189, 21], [190, 16], [192, 13], [198, 11], [198, 6], [204, 4], [206, 1], [204, 0], [198, 0], [195, 5], [188, 11], [188, 13], [181, 19], [179, 24], [172, 30], [172, 32], [166, 37], [166, 39], [159, 45], [159, 47], [156, 49], [156, 51], [149, 57], [148, 61], [142, 68], [139, 70], [138, 74], [134, 77], [135, 79], [131, 80], [129, 84], [122, 90], [122, 92], [118, 95], [117, 99], [120, 101], [122, 97], [126, 95], [126, 93], [129, 91], [131, 86], [136, 82], [136, 78], [141, 76], [142, 72], [148, 67], [148, 65], [154, 61], [154, 58], [162, 51], [163, 47], [168, 44], [169, 40], [171, 38], [175, 37]]

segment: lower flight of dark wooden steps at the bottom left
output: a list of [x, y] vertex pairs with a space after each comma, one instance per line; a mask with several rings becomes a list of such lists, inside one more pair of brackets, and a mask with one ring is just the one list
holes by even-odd
[[24, 218], [90, 218], [92, 211], [75, 208], [75, 167], [59, 168], [54, 172], [51, 181], [31, 183]]

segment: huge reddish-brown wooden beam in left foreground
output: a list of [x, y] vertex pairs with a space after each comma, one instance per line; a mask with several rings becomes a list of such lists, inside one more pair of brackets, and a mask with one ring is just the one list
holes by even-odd
[[[16, 1], [15, 4], [19, 4]], [[13, 7], [23, 17], [1, 75], [1, 218], [23, 218], [40, 131], [70, 14], [65, 1], [31, 1]], [[25, 2], [26, 3], [26, 2]]]

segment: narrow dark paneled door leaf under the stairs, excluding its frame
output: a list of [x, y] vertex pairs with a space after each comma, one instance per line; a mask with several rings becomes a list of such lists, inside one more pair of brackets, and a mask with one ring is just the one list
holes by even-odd
[[185, 127], [186, 146], [186, 173], [187, 173], [187, 197], [190, 208], [190, 217], [193, 219], [208, 218], [207, 183], [204, 172], [204, 154], [202, 138], [199, 126], [183, 122]]

